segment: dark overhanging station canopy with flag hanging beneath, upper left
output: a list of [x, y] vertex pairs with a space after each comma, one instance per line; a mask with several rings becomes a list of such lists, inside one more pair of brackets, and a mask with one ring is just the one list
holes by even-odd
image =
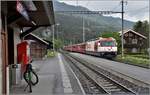
[[2, 1], [1, 5], [10, 26], [40, 27], [55, 23], [52, 1]]

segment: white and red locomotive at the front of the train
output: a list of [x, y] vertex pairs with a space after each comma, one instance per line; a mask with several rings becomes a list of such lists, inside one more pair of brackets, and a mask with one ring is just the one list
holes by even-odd
[[117, 43], [112, 37], [99, 38], [87, 42], [85, 50], [90, 55], [113, 58], [117, 55]]

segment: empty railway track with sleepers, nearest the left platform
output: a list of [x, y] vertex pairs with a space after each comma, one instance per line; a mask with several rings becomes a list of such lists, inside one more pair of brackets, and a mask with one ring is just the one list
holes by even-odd
[[65, 57], [74, 65], [76, 69], [80, 71], [80, 74], [89, 81], [89, 84], [92, 85], [90, 86], [90, 88], [96, 89], [97, 93], [121, 94], [121, 95], [123, 94], [135, 95], [136, 94], [131, 89], [121, 85], [117, 81], [110, 79], [104, 74], [94, 70], [87, 64], [81, 62], [79, 59], [70, 55], [66, 55], [66, 54], [65, 54]]

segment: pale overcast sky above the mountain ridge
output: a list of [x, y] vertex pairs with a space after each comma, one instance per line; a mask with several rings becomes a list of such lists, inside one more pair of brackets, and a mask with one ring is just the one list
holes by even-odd
[[[121, 0], [58, 0], [70, 5], [83, 6], [93, 11], [121, 11]], [[149, 21], [149, 0], [124, 0], [125, 19], [130, 21]], [[111, 15], [121, 17], [121, 14]]]

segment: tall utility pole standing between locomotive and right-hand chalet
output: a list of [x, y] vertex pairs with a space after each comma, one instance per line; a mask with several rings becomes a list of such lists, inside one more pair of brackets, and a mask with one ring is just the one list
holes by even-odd
[[124, 0], [121, 1], [121, 5], [122, 5], [122, 12], [121, 12], [121, 15], [122, 15], [122, 36], [121, 36], [121, 56], [124, 57]]

